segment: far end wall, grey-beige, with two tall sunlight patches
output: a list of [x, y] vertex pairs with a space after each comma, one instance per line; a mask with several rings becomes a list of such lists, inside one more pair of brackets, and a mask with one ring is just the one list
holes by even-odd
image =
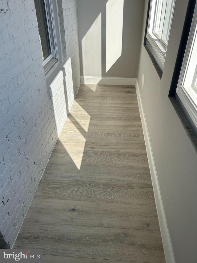
[[81, 76], [136, 77], [143, 6], [143, 0], [77, 1]]

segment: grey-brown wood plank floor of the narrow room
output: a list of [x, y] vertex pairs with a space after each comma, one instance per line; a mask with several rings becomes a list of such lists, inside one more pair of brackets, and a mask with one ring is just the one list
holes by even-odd
[[80, 86], [14, 248], [43, 262], [164, 263], [133, 86]]

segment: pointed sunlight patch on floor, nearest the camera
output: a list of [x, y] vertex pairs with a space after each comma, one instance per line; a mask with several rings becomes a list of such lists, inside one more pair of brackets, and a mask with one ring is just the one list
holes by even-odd
[[[68, 119], [66, 121], [68, 121]], [[72, 123], [72, 121], [69, 121], [69, 126], [69, 129], [72, 130], [72, 132], [75, 134], [75, 137], [68, 139], [60, 136], [59, 141], [64, 146], [65, 150], [69, 154], [70, 158], [72, 159], [78, 170], [80, 170], [83, 158], [83, 151], [86, 144], [86, 138], [83, 137], [83, 135]]]

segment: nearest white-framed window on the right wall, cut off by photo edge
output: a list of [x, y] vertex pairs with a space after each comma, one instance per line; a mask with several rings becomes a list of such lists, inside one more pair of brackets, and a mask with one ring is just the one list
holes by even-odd
[[197, 135], [197, 4], [191, 21], [175, 97], [184, 107], [183, 111], [189, 117], [191, 127]]

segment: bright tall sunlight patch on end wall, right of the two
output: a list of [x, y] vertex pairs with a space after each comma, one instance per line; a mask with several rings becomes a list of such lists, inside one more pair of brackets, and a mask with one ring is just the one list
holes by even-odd
[[106, 72], [122, 55], [124, 0], [106, 3]]

